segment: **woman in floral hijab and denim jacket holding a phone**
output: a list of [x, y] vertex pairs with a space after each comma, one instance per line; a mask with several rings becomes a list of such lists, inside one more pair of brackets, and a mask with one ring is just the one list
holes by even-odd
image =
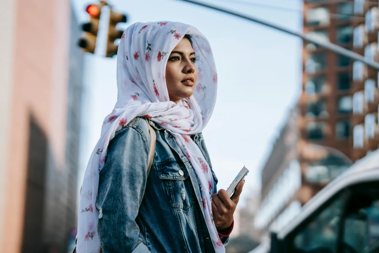
[[[225, 252], [244, 181], [231, 198], [217, 193], [200, 133], [217, 90], [207, 39], [182, 23], [133, 24], [121, 38], [117, 86], [83, 180], [77, 253]], [[144, 118], [156, 133], [149, 175]]]

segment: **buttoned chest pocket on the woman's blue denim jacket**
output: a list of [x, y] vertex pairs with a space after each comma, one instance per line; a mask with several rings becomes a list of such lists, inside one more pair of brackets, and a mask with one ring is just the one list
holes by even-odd
[[187, 169], [176, 161], [155, 166], [162, 182], [169, 206], [187, 210], [192, 206], [191, 179]]

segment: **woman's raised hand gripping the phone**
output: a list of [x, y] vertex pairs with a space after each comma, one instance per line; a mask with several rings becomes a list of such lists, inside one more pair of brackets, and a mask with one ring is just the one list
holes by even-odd
[[230, 198], [227, 191], [223, 189], [212, 195], [213, 221], [218, 232], [229, 228], [233, 222], [233, 214], [240, 200], [244, 183], [245, 180], [241, 180]]

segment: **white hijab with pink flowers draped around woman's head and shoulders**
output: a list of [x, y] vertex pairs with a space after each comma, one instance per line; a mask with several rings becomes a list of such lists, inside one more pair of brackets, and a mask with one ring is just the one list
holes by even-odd
[[[166, 64], [170, 52], [185, 34], [192, 35], [198, 58], [197, 83], [191, 97], [169, 101]], [[196, 28], [178, 22], [135, 23], [122, 35], [117, 55], [118, 100], [106, 116], [101, 137], [94, 148], [84, 174], [78, 210], [77, 253], [98, 253], [99, 212], [95, 208], [99, 173], [104, 167], [109, 141], [115, 132], [135, 117], [147, 117], [167, 129], [191, 161], [203, 199], [205, 220], [216, 253], [225, 248], [212, 219], [212, 173], [200, 149], [189, 137], [207, 125], [214, 108], [217, 74], [208, 40]]]

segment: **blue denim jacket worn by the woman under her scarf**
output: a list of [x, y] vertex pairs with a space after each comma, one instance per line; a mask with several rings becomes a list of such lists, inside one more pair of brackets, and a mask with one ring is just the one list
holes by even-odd
[[[150, 135], [143, 118], [132, 120], [109, 142], [96, 202], [102, 249], [104, 253], [214, 253], [194, 168], [174, 136], [150, 124], [156, 148], [148, 177]], [[202, 134], [191, 138], [216, 185]], [[227, 244], [228, 237], [221, 241]]]

